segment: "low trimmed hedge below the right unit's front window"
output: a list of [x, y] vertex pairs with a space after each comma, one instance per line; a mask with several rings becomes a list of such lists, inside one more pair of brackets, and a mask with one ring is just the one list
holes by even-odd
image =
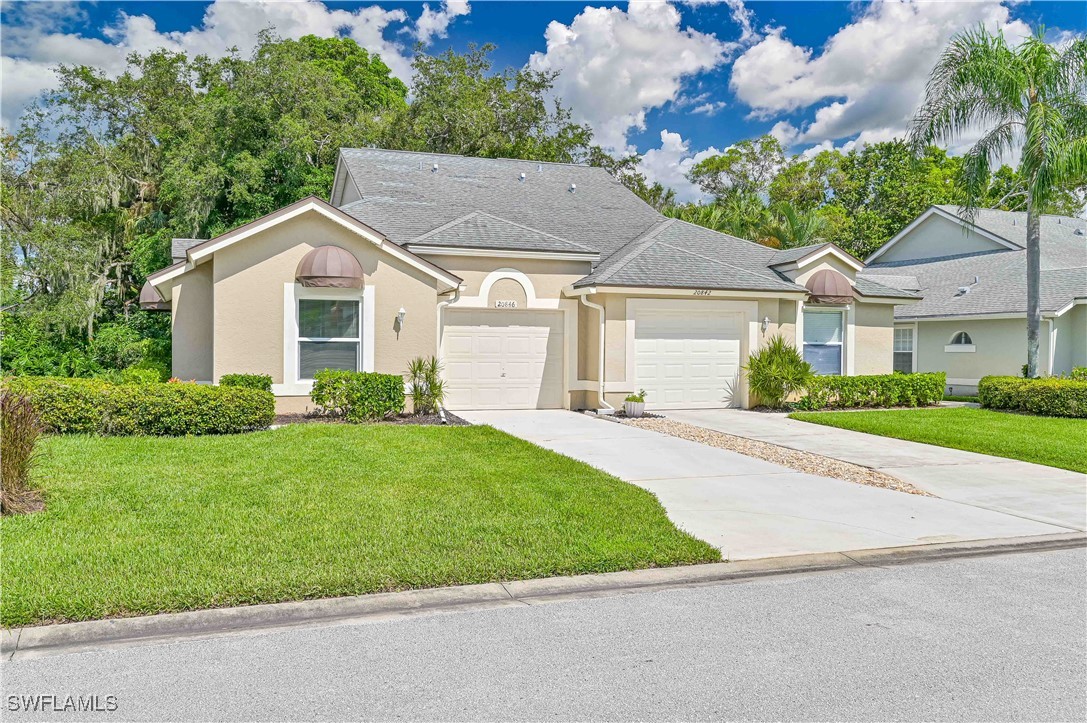
[[799, 409], [857, 409], [865, 407], [932, 407], [944, 399], [947, 374], [872, 374], [869, 376], [816, 375]]

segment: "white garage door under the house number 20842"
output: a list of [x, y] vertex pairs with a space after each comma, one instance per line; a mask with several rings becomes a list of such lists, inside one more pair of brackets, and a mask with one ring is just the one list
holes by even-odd
[[738, 404], [741, 326], [738, 313], [639, 309], [634, 317], [635, 386], [648, 392], [646, 407]]

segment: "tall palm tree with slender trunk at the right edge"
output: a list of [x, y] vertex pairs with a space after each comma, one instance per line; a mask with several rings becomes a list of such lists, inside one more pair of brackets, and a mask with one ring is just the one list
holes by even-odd
[[983, 130], [963, 158], [967, 219], [989, 171], [1020, 150], [1026, 190], [1026, 364], [1038, 375], [1041, 327], [1040, 215], [1061, 183], [1087, 177], [1087, 40], [1047, 43], [1038, 29], [1017, 47], [984, 28], [951, 39], [933, 68], [910, 126], [915, 150]]

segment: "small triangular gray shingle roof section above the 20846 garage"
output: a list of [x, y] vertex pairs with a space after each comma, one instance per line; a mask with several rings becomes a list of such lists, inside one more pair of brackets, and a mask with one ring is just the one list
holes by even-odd
[[408, 244], [454, 248], [591, 253], [580, 244], [476, 211], [416, 236]]

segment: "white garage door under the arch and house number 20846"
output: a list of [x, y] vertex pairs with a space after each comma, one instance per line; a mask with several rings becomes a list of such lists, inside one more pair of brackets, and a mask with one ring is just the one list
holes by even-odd
[[562, 360], [561, 311], [446, 311], [449, 409], [560, 409]]

